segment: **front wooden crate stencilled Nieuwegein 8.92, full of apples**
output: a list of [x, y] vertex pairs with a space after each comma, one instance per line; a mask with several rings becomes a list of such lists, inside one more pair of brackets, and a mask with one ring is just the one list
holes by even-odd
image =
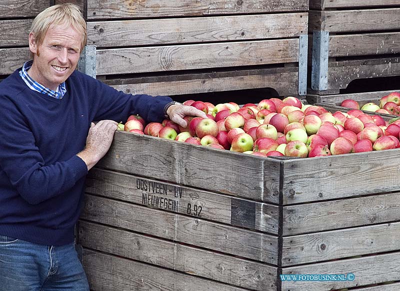
[[397, 290], [398, 156], [280, 160], [116, 132], [78, 228], [91, 289]]

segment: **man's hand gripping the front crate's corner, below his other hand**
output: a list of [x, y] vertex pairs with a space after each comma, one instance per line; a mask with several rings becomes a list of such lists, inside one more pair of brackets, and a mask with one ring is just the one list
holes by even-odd
[[90, 170], [109, 150], [117, 129], [117, 123], [112, 120], [101, 120], [97, 124], [91, 123], [86, 138], [86, 146], [77, 154]]

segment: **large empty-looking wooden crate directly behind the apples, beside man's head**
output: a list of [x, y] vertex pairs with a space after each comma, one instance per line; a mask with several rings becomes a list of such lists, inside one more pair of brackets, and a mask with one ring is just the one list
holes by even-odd
[[126, 92], [271, 87], [298, 96], [307, 10], [307, 0], [87, 0], [87, 44], [97, 48], [97, 78]]

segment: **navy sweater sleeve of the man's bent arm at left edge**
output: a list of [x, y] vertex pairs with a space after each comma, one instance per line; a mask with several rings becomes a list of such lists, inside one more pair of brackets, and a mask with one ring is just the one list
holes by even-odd
[[77, 156], [45, 164], [24, 115], [12, 101], [0, 97], [0, 167], [27, 203], [53, 198], [87, 174], [85, 163]]

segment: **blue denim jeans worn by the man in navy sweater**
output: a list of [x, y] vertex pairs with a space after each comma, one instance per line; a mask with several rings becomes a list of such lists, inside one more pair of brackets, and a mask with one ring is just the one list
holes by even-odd
[[74, 244], [37, 245], [0, 235], [0, 291], [88, 291]]

